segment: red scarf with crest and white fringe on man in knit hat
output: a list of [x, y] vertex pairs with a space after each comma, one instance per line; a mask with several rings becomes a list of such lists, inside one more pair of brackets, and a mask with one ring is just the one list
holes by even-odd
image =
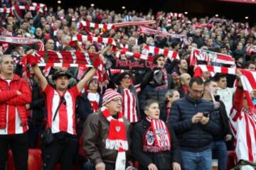
[[110, 128], [106, 140], [106, 148], [118, 150], [115, 169], [125, 169], [125, 150], [128, 150], [126, 127], [121, 113], [118, 113], [118, 120], [110, 115], [110, 111], [103, 106], [102, 114], [110, 122]]

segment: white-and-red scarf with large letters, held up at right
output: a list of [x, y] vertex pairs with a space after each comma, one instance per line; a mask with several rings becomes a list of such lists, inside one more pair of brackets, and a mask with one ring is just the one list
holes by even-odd
[[210, 52], [208, 50], [200, 50], [193, 48], [191, 50], [191, 65], [196, 65], [197, 60], [206, 62], [218, 62], [221, 64], [235, 64], [235, 60], [231, 55], [224, 55], [217, 52]]

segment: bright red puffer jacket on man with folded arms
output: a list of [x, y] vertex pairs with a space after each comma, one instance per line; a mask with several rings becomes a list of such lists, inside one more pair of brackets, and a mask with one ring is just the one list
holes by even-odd
[[[18, 96], [16, 91], [21, 91]], [[28, 125], [28, 115], [25, 105], [31, 103], [31, 89], [28, 82], [14, 74], [10, 84], [0, 77], [0, 128], [6, 128], [7, 105], [9, 111], [18, 110], [22, 126]]]

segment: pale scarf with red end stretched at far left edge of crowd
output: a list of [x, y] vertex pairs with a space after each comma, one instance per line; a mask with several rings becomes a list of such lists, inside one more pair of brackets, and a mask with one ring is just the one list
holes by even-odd
[[0, 42], [15, 44], [15, 45], [33, 45], [38, 44], [39, 50], [44, 50], [44, 45], [41, 40], [33, 38], [18, 38], [18, 37], [6, 37], [0, 36]]

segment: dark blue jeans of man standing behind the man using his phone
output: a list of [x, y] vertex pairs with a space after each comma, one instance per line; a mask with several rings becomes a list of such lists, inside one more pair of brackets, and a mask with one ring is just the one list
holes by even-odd
[[211, 143], [213, 159], [218, 159], [218, 169], [226, 170], [228, 164], [227, 146], [223, 140], [213, 141]]

